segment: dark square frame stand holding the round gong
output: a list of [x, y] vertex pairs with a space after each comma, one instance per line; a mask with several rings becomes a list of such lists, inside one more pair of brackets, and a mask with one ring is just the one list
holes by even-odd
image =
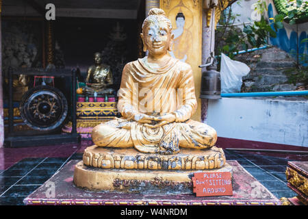
[[[72, 95], [71, 95], [71, 104], [72, 104], [72, 131], [71, 133], [55, 133], [54, 130], [48, 131], [48, 127], [42, 127], [41, 129], [34, 129], [33, 131], [14, 131], [14, 115], [13, 115], [13, 75], [34, 75], [34, 76], [54, 76], [54, 77], [71, 77], [72, 81]], [[31, 68], [31, 69], [18, 69], [13, 72], [13, 70], [8, 71], [8, 86], [9, 86], [9, 99], [8, 99], [8, 133], [5, 134], [4, 146], [5, 147], [25, 147], [25, 146], [47, 146], [55, 144], [68, 144], [68, 143], [77, 143], [80, 141], [80, 136], [77, 133], [77, 119], [76, 119], [76, 70], [68, 69], [50, 69], [42, 70], [41, 68]], [[44, 86], [42, 86], [44, 87]], [[46, 86], [48, 87], [48, 86]], [[36, 87], [34, 87], [36, 88]], [[51, 87], [53, 88], [53, 87]], [[51, 90], [57, 90], [51, 89]], [[47, 92], [47, 94], [49, 94]], [[50, 93], [50, 95], [53, 95]], [[67, 95], [66, 95], [67, 96]], [[64, 96], [63, 96], [64, 97]], [[59, 101], [62, 101], [61, 95], [58, 98]], [[34, 99], [36, 101], [36, 99]], [[66, 101], [66, 100], [65, 100]], [[46, 103], [46, 101], [44, 101]], [[42, 112], [47, 110], [48, 106], [45, 104], [40, 105]], [[26, 123], [29, 127], [31, 125]], [[34, 127], [31, 127], [34, 128]], [[40, 130], [40, 131], [39, 131]]]

